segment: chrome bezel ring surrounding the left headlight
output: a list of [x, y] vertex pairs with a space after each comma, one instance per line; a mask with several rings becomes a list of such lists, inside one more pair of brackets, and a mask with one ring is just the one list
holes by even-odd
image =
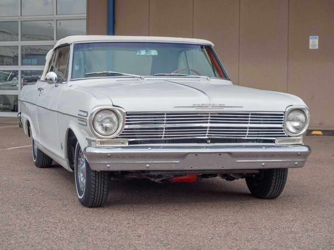
[[[115, 130], [114, 133], [110, 134], [110, 135], [102, 135], [100, 134], [96, 129], [95, 129], [95, 126], [94, 126], [94, 118], [95, 116], [97, 115], [97, 113], [99, 113], [100, 111], [102, 110], [105, 110], [105, 109], [108, 109], [112, 112], [114, 112], [118, 118], [118, 127], [117, 129]], [[99, 107], [97, 109], [95, 109], [91, 115], [89, 116], [88, 118], [88, 124], [89, 124], [89, 127], [93, 133], [93, 135], [97, 138], [100, 138], [100, 139], [110, 139], [110, 138], [115, 138], [116, 136], [118, 136], [120, 133], [122, 133], [123, 129], [124, 129], [124, 123], [125, 123], [125, 116], [126, 116], [126, 112], [124, 109], [122, 108], [118, 108], [118, 107]]]

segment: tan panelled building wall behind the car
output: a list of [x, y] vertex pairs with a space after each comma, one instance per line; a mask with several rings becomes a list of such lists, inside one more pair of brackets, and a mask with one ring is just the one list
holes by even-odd
[[[89, 35], [107, 33], [106, 2], [88, 0]], [[311, 129], [334, 129], [333, 27], [333, 0], [115, 0], [115, 35], [210, 40], [234, 84], [301, 97]]]

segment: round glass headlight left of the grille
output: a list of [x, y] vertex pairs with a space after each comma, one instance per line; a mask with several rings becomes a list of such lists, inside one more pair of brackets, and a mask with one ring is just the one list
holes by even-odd
[[118, 128], [117, 115], [109, 109], [101, 110], [94, 117], [94, 128], [101, 135], [111, 135]]

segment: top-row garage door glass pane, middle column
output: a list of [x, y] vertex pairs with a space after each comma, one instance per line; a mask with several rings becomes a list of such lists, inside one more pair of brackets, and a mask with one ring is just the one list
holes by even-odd
[[54, 14], [54, 0], [22, 0], [22, 16], [45, 16]]

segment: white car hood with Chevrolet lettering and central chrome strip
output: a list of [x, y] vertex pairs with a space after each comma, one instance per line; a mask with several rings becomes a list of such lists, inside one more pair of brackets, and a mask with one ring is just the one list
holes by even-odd
[[[293, 95], [232, 85], [226, 80], [150, 78], [138, 81], [122, 80], [117, 83], [110, 83], [110, 79], [109, 82], [106, 80], [86, 82], [80, 87], [87, 91], [105, 94], [114, 106], [122, 107], [128, 112], [184, 110], [275, 112], [285, 111], [290, 105], [305, 105], [300, 98]], [[208, 107], [194, 108], [194, 104]]]

